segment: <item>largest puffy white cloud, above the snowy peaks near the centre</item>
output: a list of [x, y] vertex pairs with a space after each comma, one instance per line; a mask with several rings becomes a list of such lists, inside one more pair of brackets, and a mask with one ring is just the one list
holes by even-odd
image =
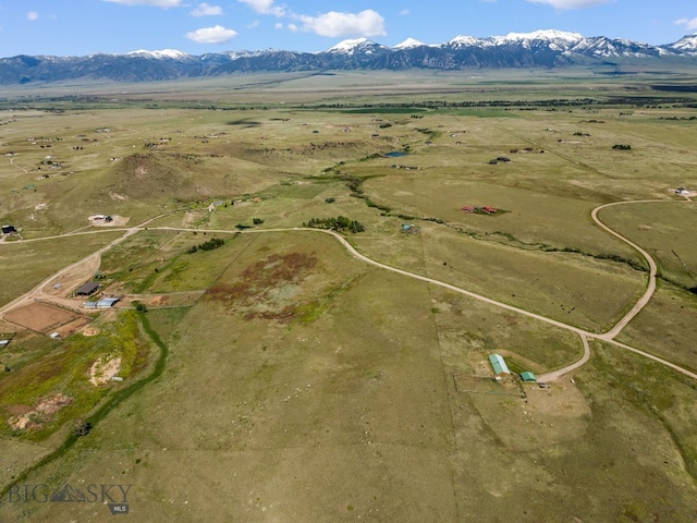
[[367, 9], [359, 13], [339, 13], [330, 11], [319, 16], [296, 15], [303, 22], [301, 31], [320, 36], [384, 36], [384, 19]]

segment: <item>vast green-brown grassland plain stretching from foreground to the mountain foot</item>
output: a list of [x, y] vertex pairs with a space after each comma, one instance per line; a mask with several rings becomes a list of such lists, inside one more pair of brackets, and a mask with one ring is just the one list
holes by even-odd
[[538, 73], [3, 94], [0, 520], [697, 521], [697, 96]]

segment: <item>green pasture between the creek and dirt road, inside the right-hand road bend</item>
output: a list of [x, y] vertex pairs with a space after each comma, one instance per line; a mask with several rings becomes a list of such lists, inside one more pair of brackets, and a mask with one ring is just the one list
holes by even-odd
[[[419, 273], [594, 331], [617, 320], [645, 288], [646, 273], [579, 254], [522, 251], [431, 224], [420, 238], [407, 236], [390, 243], [420, 243]], [[379, 240], [356, 243], [378, 259], [389, 245]]]

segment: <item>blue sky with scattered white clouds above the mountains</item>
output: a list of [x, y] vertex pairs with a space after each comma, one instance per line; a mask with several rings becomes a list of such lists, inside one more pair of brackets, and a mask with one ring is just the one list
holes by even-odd
[[537, 29], [669, 44], [697, 33], [695, 0], [0, 0], [0, 57], [138, 49], [321, 51]]

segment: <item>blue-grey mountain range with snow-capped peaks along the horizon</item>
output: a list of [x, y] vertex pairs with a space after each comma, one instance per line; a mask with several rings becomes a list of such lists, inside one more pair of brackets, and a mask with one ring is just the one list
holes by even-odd
[[0, 85], [77, 78], [152, 82], [264, 71], [564, 68], [667, 59], [697, 65], [697, 34], [663, 46], [548, 29], [487, 38], [457, 36], [438, 45], [408, 38], [394, 47], [356, 38], [321, 52], [267, 49], [193, 56], [166, 49], [85, 57], [22, 54], [0, 59]]

